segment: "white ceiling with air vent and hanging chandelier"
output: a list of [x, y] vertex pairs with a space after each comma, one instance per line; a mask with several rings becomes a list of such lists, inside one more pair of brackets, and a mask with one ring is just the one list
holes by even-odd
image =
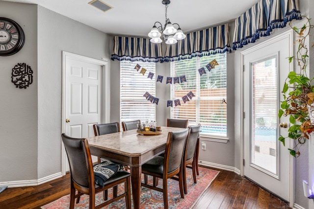
[[[147, 37], [156, 21], [165, 23], [162, 0], [103, 0], [102, 10], [91, 0], [7, 0], [41, 5], [108, 34]], [[167, 17], [184, 33], [234, 20], [259, 0], [171, 0]]]

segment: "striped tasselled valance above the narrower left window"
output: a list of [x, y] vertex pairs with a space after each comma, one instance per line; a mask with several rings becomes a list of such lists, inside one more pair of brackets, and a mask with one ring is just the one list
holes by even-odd
[[163, 62], [161, 44], [154, 44], [149, 38], [114, 36], [112, 60]]

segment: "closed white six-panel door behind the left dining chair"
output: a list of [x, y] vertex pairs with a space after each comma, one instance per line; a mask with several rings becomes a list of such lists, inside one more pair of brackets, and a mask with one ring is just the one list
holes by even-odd
[[[64, 131], [74, 138], [93, 137], [93, 125], [101, 123], [105, 62], [74, 54], [64, 56]], [[105, 97], [104, 97], [105, 98]], [[93, 161], [97, 161], [94, 157]], [[67, 156], [65, 172], [69, 171]]]

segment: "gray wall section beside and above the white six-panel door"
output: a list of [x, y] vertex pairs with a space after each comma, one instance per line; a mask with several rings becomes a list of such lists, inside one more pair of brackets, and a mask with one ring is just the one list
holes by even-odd
[[65, 119], [61, 118], [62, 51], [109, 60], [108, 37], [38, 7], [38, 178], [60, 172], [61, 168], [61, 121]]

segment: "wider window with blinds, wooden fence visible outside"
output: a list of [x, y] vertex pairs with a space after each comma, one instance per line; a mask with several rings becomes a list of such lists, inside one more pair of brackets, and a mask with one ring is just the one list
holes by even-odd
[[[210, 71], [206, 65], [212, 60], [218, 65]], [[201, 135], [227, 136], [227, 54], [195, 57], [172, 62], [171, 76], [185, 75], [186, 81], [171, 87], [171, 99], [180, 99], [181, 105], [171, 109], [171, 117], [189, 119], [189, 125], [201, 123]], [[199, 69], [205, 68], [206, 74], [200, 75]], [[194, 97], [182, 102], [189, 92]]]

